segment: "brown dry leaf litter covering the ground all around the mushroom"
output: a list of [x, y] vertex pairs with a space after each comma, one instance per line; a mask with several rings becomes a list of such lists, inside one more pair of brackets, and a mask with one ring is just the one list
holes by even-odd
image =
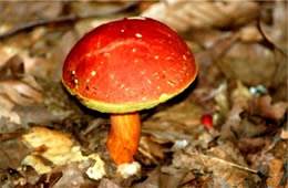
[[[287, 6], [1, 2], [0, 187], [287, 187]], [[60, 79], [84, 33], [132, 15], [174, 29], [199, 74], [142, 113], [136, 163], [120, 170], [105, 148], [109, 116], [83, 107]]]

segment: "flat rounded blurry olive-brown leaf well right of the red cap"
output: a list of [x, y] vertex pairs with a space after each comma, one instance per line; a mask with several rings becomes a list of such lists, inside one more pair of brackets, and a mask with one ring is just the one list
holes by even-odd
[[[244, 53], [245, 52], [245, 53]], [[217, 62], [226, 77], [246, 85], [270, 85], [276, 72], [275, 53], [258, 43], [236, 43]]]

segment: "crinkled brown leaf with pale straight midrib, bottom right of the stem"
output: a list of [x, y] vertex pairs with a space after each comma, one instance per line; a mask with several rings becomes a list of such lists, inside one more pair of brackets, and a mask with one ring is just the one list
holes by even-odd
[[212, 148], [207, 155], [188, 147], [186, 152], [174, 154], [173, 165], [177, 168], [213, 171], [215, 177], [224, 179], [230, 186], [237, 186], [249, 176], [249, 173], [257, 173], [248, 168], [239, 157], [228, 145]]

